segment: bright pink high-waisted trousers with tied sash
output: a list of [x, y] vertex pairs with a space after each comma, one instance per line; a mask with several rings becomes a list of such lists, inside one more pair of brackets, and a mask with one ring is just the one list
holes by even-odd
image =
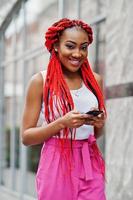
[[[60, 149], [58, 139], [42, 148], [36, 175], [38, 200], [105, 200], [104, 161], [93, 135]], [[68, 156], [69, 155], [69, 156]]]

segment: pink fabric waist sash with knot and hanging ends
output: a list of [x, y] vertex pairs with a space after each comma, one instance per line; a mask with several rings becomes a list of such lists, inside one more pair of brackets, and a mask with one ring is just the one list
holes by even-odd
[[[62, 146], [62, 143], [58, 138], [51, 138], [48, 141], [46, 141], [45, 145], [54, 145], [59, 147]], [[70, 147], [70, 140], [64, 140], [63, 148]], [[81, 148], [86, 180], [93, 179], [92, 165], [96, 170], [98, 166], [99, 171], [105, 177], [105, 163], [102, 154], [97, 146], [96, 138], [93, 135], [90, 135], [89, 138], [86, 140], [72, 140], [72, 148]], [[81, 178], [83, 178], [82, 174]]]

